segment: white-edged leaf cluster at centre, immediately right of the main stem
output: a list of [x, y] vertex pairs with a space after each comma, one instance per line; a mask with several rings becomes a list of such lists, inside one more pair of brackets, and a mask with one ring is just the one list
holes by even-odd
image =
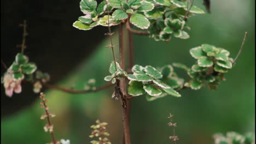
[[[127, 75], [127, 79], [130, 80], [128, 93], [133, 96], [147, 93], [147, 100], [154, 100], [168, 94], [174, 97], [181, 97], [181, 95], [171, 87], [177, 84], [178, 86], [176, 86], [176, 88], [178, 88], [183, 84], [181, 83], [182, 80], [177, 79], [177, 77], [173, 75], [172, 66], [166, 65], [161, 69], [162, 70], [159, 71], [150, 65], [146, 67], [134, 65], [132, 67], [133, 74]], [[174, 82], [171, 82], [171, 80]]]

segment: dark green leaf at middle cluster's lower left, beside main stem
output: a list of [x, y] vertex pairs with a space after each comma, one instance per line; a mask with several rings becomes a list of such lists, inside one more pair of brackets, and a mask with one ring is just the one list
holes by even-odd
[[128, 93], [132, 96], [138, 96], [145, 93], [143, 89], [143, 83], [139, 81], [130, 81]]

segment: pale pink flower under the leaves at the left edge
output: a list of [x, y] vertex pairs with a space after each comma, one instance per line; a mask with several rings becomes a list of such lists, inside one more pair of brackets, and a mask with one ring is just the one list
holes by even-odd
[[13, 79], [13, 74], [11, 73], [5, 74], [3, 78], [3, 83], [5, 88], [5, 94], [8, 97], [13, 96], [13, 92], [21, 93], [21, 80], [15, 81]]

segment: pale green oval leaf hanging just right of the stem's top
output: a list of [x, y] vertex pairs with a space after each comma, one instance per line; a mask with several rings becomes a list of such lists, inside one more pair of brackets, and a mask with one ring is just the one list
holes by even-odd
[[147, 17], [142, 14], [133, 14], [130, 18], [130, 22], [141, 29], [147, 29], [150, 26]]

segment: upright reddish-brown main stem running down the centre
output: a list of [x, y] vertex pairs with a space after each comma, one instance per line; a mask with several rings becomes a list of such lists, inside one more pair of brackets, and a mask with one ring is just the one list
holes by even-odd
[[[119, 26], [119, 59], [120, 59], [120, 67], [125, 70], [125, 55], [124, 55], [124, 32], [123, 32], [123, 23]], [[131, 144], [130, 140], [130, 128], [129, 128], [129, 119], [127, 112], [127, 99], [126, 99], [126, 86], [125, 86], [125, 78], [123, 77], [120, 80], [120, 89], [122, 93], [122, 97], [120, 98], [122, 113], [123, 113], [123, 125], [124, 125], [124, 137], [125, 144]]]

